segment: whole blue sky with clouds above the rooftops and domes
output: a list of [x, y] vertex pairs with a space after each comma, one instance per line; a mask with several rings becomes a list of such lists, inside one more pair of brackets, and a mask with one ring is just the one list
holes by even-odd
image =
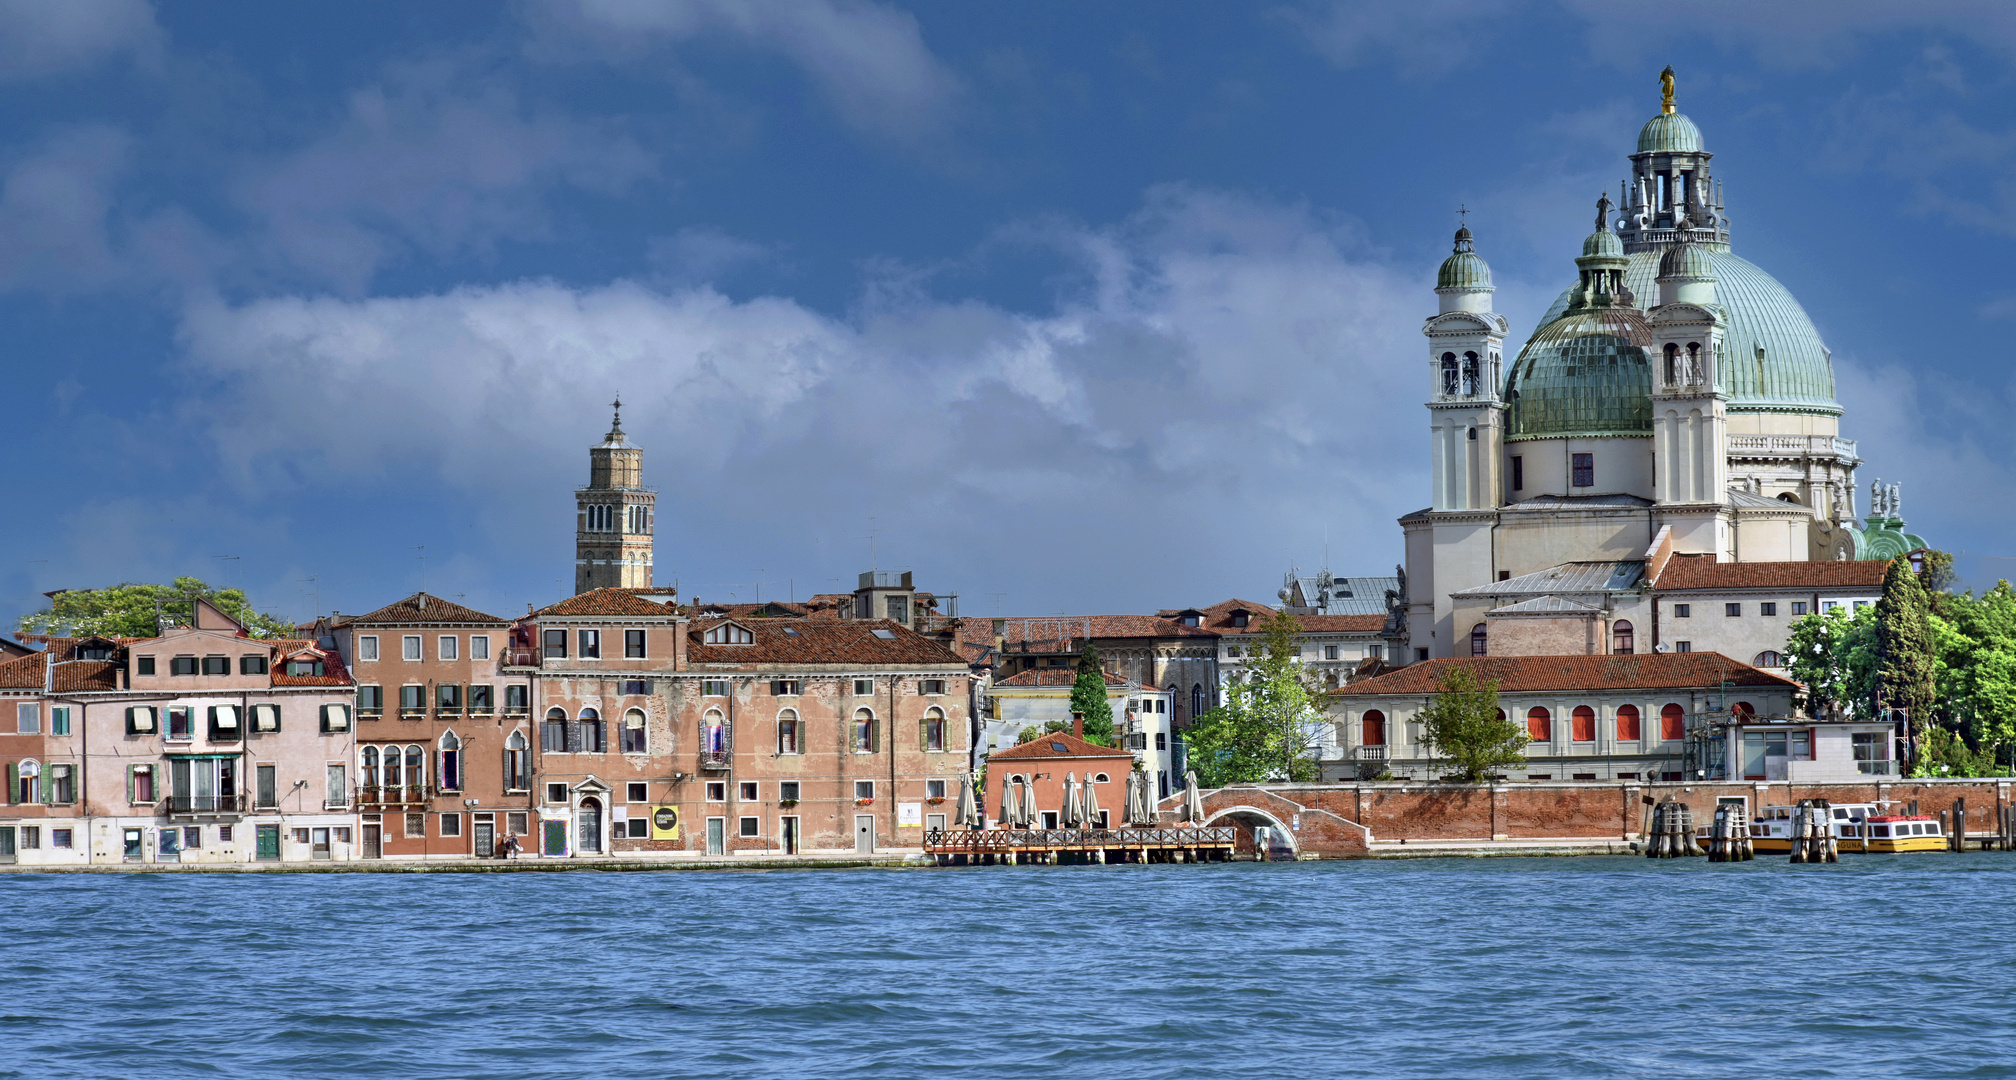
[[2016, 4], [0, 0], [0, 619], [657, 580], [966, 615], [1389, 574], [1458, 208], [1516, 349], [1657, 73], [1863, 488], [2016, 576]]

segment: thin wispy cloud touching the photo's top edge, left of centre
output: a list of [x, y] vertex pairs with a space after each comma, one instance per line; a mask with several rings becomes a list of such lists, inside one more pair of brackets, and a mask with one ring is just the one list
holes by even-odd
[[530, 12], [540, 30], [613, 56], [710, 34], [776, 50], [851, 127], [903, 143], [939, 133], [962, 95], [915, 16], [867, 0], [571, 0]]

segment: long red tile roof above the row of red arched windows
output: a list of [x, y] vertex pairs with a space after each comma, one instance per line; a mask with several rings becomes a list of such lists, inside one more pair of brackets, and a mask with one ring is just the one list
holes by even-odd
[[1498, 679], [1500, 693], [1558, 689], [1699, 689], [1728, 679], [1736, 687], [1798, 689], [1798, 683], [1758, 671], [1722, 653], [1649, 653], [1641, 657], [1443, 657], [1419, 661], [1387, 675], [1349, 683], [1331, 693], [1435, 693], [1441, 675], [1464, 667], [1482, 679]]

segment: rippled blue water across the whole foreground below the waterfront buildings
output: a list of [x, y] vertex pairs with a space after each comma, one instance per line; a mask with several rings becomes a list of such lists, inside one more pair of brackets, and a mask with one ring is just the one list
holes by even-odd
[[0, 876], [0, 1076], [2016, 1076], [2016, 854]]

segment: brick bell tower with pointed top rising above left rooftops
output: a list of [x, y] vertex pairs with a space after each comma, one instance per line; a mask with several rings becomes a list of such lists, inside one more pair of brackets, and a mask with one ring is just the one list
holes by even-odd
[[643, 447], [623, 439], [623, 399], [601, 445], [589, 449], [589, 486], [575, 490], [575, 592], [651, 588], [657, 492], [643, 486]]

